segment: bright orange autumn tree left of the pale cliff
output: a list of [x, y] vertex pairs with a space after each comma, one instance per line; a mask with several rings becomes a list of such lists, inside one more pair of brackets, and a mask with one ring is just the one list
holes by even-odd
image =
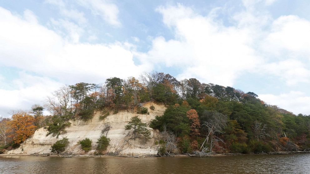
[[26, 113], [17, 113], [12, 115], [12, 120], [7, 122], [8, 132], [10, 138], [16, 144], [24, 142], [28, 137], [30, 137], [36, 130], [34, 125], [35, 119]]

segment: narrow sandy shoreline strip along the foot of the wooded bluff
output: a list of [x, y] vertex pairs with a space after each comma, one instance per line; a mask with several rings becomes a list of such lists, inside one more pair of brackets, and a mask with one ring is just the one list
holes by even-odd
[[[214, 154], [212, 156], [208, 157], [228, 157], [228, 156], [241, 156], [241, 155], [286, 155], [286, 154], [295, 154], [295, 153], [310, 153], [310, 151], [304, 152], [304, 151], [293, 151], [293, 152], [269, 152], [269, 153], [249, 153], [249, 154], [243, 154], [243, 153], [218, 153]], [[111, 156], [111, 155], [50, 155], [50, 154], [0, 154], [0, 157], [5, 156], [11, 156], [11, 157], [61, 157], [61, 158], [110, 158], [110, 157], [131, 157], [131, 158], [150, 158], [150, 157], [158, 157], [156, 155], [134, 155], [134, 156], [128, 156], [128, 155], [121, 155], [121, 156]], [[180, 155], [173, 155], [173, 156], [166, 156], [166, 157], [200, 157], [200, 156], [189, 156], [186, 154], [180, 154]]]

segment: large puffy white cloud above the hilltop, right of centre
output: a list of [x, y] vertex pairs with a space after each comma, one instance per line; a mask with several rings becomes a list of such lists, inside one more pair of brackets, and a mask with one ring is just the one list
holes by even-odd
[[153, 39], [143, 61], [178, 66], [179, 78], [196, 77], [207, 83], [232, 85], [241, 72], [253, 69], [259, 62], [252, 44], [252, 31], [226, 27], [211, 16], [195, 14], [191, 8], [159, 7], [163, 22], [175, 33], [175, 38]]

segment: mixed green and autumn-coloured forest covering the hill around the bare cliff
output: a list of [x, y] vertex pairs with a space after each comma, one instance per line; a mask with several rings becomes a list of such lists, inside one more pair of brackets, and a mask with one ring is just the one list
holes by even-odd
[[[66, 85], [44, 99], [42, 106], [13, 111], [11, 118], [0, 118], [0, 153], [18, 147], [38, 128], [59, 136], [70, 126], [69, 120], [88, 120], [96, 111], [105, 113], [102, 119], [122, 110], [148, 114], [153, 108], [141, 105], [148, 101], [167, 107], [149, 123], [163, 135], [157, 142], [160, 156], [310, 148], [310, 115], [295, 115], [268, 105], [254, 92], [201, 83], [195, 78], [178, 81], [172, 75], [151, 72], [127, 80], [113, 77], [103, 84]], [[51, 115], [43, 115], [44, 109]]]

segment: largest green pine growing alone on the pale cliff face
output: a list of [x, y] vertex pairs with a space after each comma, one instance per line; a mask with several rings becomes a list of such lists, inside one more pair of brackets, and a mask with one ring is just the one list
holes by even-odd
[[125, 130], [133, 129], [134, 140], [140, 135], [142, 135], [143, 138], [150, 139], [151, 131], [148, 130], [147, 126], [146, 123], [141, 122], [141, 119], [137, 115], [130, 119], [129, 123], [125, 126]]

